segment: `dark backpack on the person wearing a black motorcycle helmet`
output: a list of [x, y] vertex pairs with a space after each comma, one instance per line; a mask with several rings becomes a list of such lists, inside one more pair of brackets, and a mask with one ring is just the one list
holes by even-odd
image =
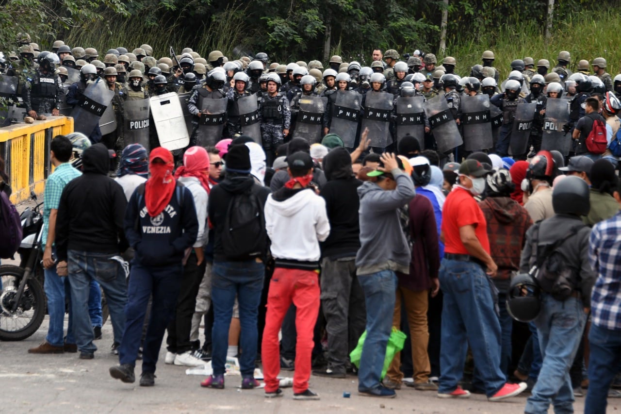
[[535, 266], [529, 272], [535, 277], [539, 287], [543, 292], [549, 293], [556, 300], [564, 301], [574, 291], [574, 285], [571, 283], [571, 269], [566, 266], [566, 260], [557, 252], [557, 249], [566, 240], [570, 239], [584, 227], [584, 224], [578, 224], [569, 229], [569, 232], [557, 241], [546, 244], [543, 249], [538, 248], [539, 228], [541, 223], [537, 223], [535, 238], [533, 244], [535, 246]]

